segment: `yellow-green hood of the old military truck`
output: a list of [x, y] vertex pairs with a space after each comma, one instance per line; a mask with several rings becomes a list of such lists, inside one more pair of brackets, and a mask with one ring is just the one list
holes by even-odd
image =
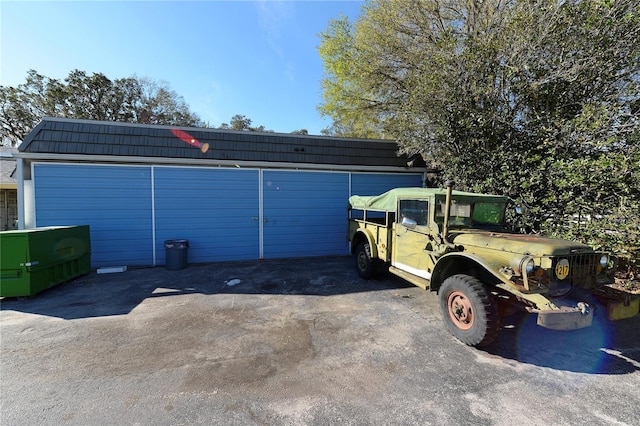
[[572, 253], [592, 253], [593, 249], [575, 241], [546, 238], [539, 235], [510, 234], [480, 230], [451, 230], [449, 241], [467, 249], [477, 247], [535, 257]]

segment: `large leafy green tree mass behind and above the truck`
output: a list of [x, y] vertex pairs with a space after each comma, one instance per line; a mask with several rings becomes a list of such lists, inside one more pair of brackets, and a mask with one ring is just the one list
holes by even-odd
[[534, 231], [634, 262], [639, 9], [635, 0], [367, 2], [357, 21], [339, 18], [321, 34], [325, 134], [395, 139], [460, 189], [528, 205]]

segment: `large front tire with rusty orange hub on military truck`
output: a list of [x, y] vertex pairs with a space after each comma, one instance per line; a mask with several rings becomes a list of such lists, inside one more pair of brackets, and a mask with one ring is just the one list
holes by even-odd
[[459, 274], [447, 278], [438, 291], [440, 310], [449, 332], [469, 346], [485, 346], [500, 331], [495, 299], [480, 280]]

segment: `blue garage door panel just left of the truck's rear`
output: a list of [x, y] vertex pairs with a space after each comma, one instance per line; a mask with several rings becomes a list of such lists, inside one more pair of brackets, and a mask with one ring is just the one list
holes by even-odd
[[349, 174], [263, 172], [264, 257], [347, 254]]

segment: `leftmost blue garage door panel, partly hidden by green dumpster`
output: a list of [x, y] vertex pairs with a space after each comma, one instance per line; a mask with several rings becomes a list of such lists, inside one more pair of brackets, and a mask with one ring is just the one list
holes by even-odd
[[151, 265], [151, 168], [35, 164], [36, 226], [90, 225], [93, 267]]

